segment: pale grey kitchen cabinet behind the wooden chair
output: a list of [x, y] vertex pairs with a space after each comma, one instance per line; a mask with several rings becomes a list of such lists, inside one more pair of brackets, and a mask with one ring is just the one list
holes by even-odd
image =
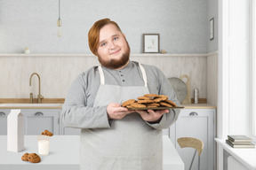
[[[178, 120], [169, 128], [170, 139], [185, 163], [185, 169], [189, 168], [193, 157], [194, 149], [180, 148], [177, 139], [180, 137], [195, 137], [204, 142], [204, 150], [201, 155], [201, 169], [215, 170], [216, 147], [214, 137], [216, 133], [215, 109], [182, 109]], [[196, 153], [197, 154], [197, 153]], [[192, 166], [193, 170], [198, 169], [197, 155]]]

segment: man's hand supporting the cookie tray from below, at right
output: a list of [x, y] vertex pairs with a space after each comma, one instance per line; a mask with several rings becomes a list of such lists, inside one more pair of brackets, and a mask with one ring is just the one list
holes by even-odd
[[168, 109], [165, 110], [148, 110], [148, 111], [135, 111], [138, 112], [141, 118], [149, 123], [159, 123], [164, 113], [169, 112]]

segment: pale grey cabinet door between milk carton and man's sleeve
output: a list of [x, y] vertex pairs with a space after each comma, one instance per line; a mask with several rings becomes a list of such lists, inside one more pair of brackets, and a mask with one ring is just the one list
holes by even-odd
[[21, 112], [25, 115], [25, 135], [41, 135], [45, 129], [59, 135], [59, 114], [58, 109], [24, 109]]

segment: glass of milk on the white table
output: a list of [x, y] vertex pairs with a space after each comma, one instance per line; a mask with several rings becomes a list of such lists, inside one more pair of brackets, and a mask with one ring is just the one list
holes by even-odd
[[38, 142], [38, 153], [46, 156], [49, 154], [50, 148], [50, 136], [48, 135], [37, 135]]

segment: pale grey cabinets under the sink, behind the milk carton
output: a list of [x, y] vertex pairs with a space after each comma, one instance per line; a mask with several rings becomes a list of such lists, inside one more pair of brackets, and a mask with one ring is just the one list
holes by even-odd
[[[40, 135], [45, 129], [60, 135], [60, 109], [20, 109], [24, 115], [24, 135]], [[7, 135], [7, 116], [11, 109], [0, 110], [0, 135]]]

